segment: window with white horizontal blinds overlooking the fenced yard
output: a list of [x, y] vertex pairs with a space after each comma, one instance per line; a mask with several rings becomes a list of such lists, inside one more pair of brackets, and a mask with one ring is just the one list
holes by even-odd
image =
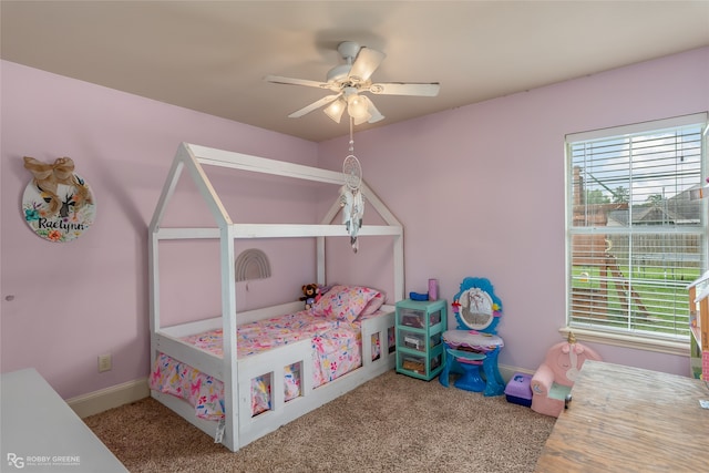
[[569, 330], [688, 347], [686, 287], [707, 268], [706, 147], [706, 113], [566, 136]]

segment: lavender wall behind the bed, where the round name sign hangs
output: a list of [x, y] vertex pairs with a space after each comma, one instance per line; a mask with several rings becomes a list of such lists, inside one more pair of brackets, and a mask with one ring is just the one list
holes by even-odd
[[[35, 367], [63, 398], [145, 377], [150, 364], [147, 225], [178, 144], [287, 156], [308, 165], [317, 164], [317, 144], [11, 62], [3, 61], [1, 68], [1, 370]], [[95, 224], [79, 239], [50, 243], [24, 223], [20, 204], [30, 182], [22, 163], [25, 155], [48, 163], [70, 156], [76, 173], [92, 187]], [[227, 187], [217, 179], [216, 185], [226, 191], [227, 199], [235, 197], [236, 189], [245, 191], [246, 202], [254, 205], [238, 208], [239, 218], [269, 213], [316, 218], [314, 203], [301, 202], [302, 189], [276, 185], [269, 189], [258, 182], [260, 186], [249, 186], [247, 181]], [[189, 214], [194, 207], [204, 215], [194, 188], [184, 187], [177, 214]], [[264, 198], [269, 191], [295, 197]], [[310, 246], [267, 247], [275, 266], [268, 284], [280, 287], [280, 294], [264, 281], [251, 282], [248, 292], [242, 284], [237, 287], [240, 306], [259, 307], [274, 296], [277, 302], [295, 300], [299, 286], [294, 281], [315, 279], [312, 257], [305, 264], [286, 264], [282, 258], [315, 255], [315, 244]], [[204, 267], [218, 278], [218, 259], [215, 263], [197, 251], [178, 257], [194, 274]], [[168, 278], [176, 273], [169, 269], [165, 270]], [[203, 278], [194, 279], [196, 284]], [[216, 291], [216, 281], [207, 284], [212, 287], [207, 290]], [[173, 305], [183, 305], [186, 311], [199, 307], [203, 291], [177, 286]], [[219, 313], [218, 296], [215, 300], [213, 310]], [[113, 353], [113, 370], [97, 373], [96, 357], [105, 352]]]

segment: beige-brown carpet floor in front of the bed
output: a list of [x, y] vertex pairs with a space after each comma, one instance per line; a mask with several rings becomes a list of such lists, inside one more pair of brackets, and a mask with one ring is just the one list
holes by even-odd
[[152, 399], [84, 421], [131, 472], [524, 473], [556, 419], [389, 371], [236, 453]]

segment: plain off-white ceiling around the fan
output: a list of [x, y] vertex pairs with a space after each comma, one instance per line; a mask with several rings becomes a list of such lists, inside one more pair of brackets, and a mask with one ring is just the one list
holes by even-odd
[[347, 135], [325, 81], [337, 45], [387, 53], [374, 82], [440, 82], [436, 97], [373, 96], [367, 130], [709, 45], [709, 1], [6, 1], [1, 56], [320, 142]]

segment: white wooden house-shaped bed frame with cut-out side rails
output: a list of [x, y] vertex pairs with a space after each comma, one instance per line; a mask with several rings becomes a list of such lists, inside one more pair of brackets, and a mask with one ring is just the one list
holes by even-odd
[[[393, 307], [382, 306], [387, 313], [361, 322], [362, 366], [349, 373], [314, 389], [310, 370], [312, 348], [310, 340], [275, 348], [237, 360], [237, 321], [240, 323], [269, 317], [291, 313], [302, 309], [301, 301], [236, 312], [236, 270], [235, 241], [248, 238], [316, 238], [317, 279], [326, 282], [326, 237], [347, 237], [345, 225], [332, 224], [340, 205], [338, 189], [333, 188], [335, 202], [320, 224], [245, 224], [234, 223], [222, 200], [217, 196], [205, 166], [218, 166], [329, 183], [337, 186], [345, 184], [342, 173], [304, 166], [294, 163], [268, 160], [257, 156], [215, 150], [205, 146], [183, 143], [179, 145], [173, 165], [167, 175], [163, 192], [150, 224], [148, 233], [148, 269], [151, 289], [151, 367], [158, 353], [173, 357], [201, 372], [216, 378], [224, 383], [223, 422], [209, 421], [195, 415], [195, 410], [187, 402], [156, 390], [151, 395], [178, 413], [207, 434], [214, 435], [232, 451], [278, 429], [294, 419], [338, 398], [363, 382], [394, 367], [393, 347], [390, 347], [388, 330], [393, 327]], [[215, 227], [163, 227], [162, 220], [177, 182], [187, 171], [196, 184], [202, 198], [207, 204]], [[359, 237], [393, 237], [393, 300], [403, 298], [403, 228], [393, 214], [377, 195], [362, 182], [361, 192], [369, 202], [370, 208], [379, 213], [387, 225], [364, 225]], [[162, 327], [160, 304], [160, 243], [164, 240], [218, 239], [220, 247], [220, 285], [222, 317], [173, 327]], [[223, 357], [197, 349], [181, 338], [210, 329], [223, 330]], [[370, 357], [372, 336], [381, 342], [381, 356]], [[291, 401], [284, 401], [282, 379], [285, 367], [298, 363], [301, 371], [300, 395]], [[263, 414], [253, 417], [250, 411], [250, 381], [253, 378], [271, 374], [273, 408]]]

